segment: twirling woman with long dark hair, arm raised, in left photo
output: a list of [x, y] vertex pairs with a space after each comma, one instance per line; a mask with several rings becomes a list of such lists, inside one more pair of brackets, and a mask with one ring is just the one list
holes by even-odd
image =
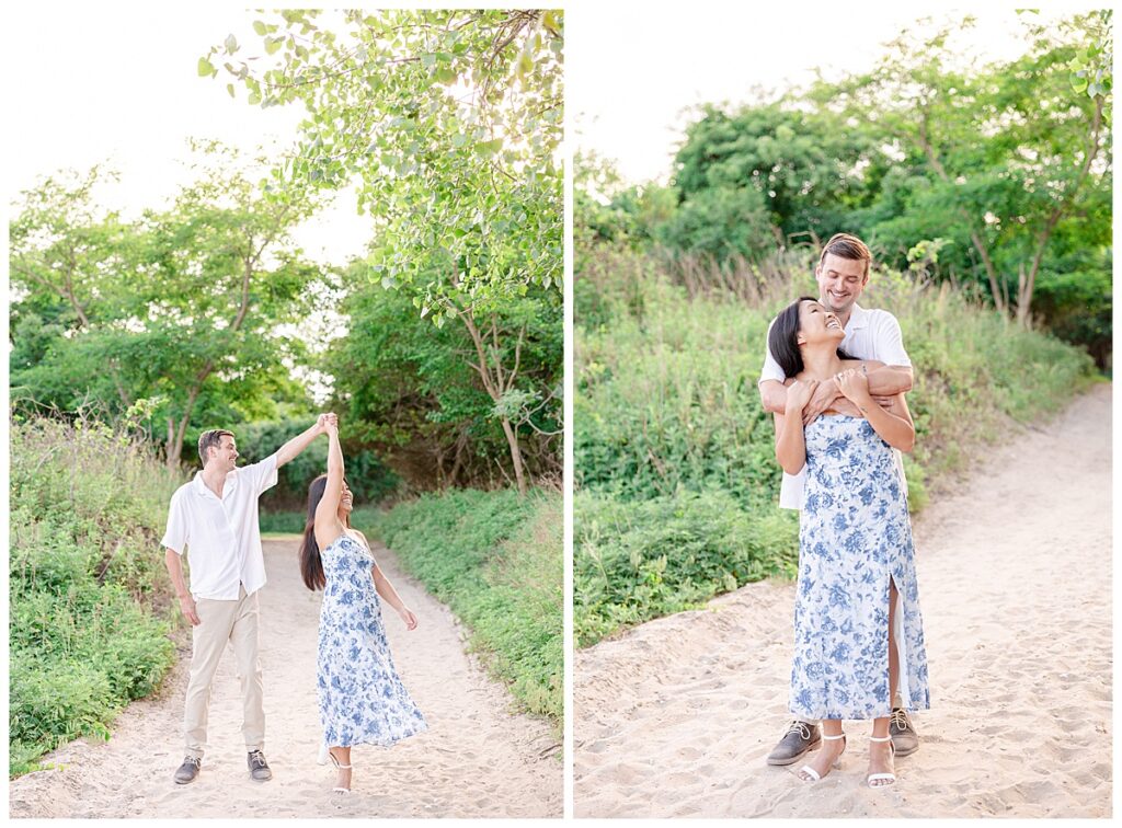
[[320, 720], [338, 769], [334, 791], [350, 793], [352, 745], [388, 747], [429, 726], [397, 677], [381, 626], [381, 600], [407, 629], [416, 628], [416, 616], [375, 562], [366, 536], [351, 528], [352, 497], [343, 480], [338, 425], [329, 422], [327, 433], [328, 473], [307, 489], [300, 571], [309, 589], [323, 590], [316, 656]]

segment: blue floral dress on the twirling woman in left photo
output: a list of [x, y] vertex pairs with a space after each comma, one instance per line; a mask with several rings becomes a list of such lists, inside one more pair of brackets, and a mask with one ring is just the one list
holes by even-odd
[[388, 747], [427, 730], [394, 669], [370, 550], [342, 534], [320, 558], [327, 587], [320, 605], [316, 684], [324, 744]]

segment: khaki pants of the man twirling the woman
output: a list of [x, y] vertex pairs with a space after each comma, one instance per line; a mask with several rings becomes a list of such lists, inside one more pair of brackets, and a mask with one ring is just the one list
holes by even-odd
[[195, 613], [200, 624], [191, 628], [191, 678], [183, 716], [186, 755], [202, 758], [206, 749], [211, 681], [227, 642], [233, 647], [241, 679], [241, 734], [246, 751], [259, 751], [265, 742], [265, 706], [261, 664], [257, 657], [257, 594], [246, 595], [241, 587], [238, 600], [197, 598]]

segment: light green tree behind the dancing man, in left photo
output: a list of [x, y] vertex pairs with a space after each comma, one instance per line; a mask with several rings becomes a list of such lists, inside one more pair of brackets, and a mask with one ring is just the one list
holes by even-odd
[[25, 193], [11, 230], [13, 397], [139, 416], [169, 466], [190, 429], [306, 399], [283, 365], [302, 343], [280, 326], [320, 278], [287, 236], [312, 200], [265, 196], [232, 154], [204, 149], [169, 210], [98, 217], [92, 173]]

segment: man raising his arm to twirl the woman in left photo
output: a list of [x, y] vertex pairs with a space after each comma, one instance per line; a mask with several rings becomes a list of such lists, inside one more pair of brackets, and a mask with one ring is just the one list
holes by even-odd
[[[261, 748], [265, 708], [257, 657], [257, 590], [265, 586], [265, 558], [257, 524], [257, 499], [277, 481], [277, 469], [294, 459], [320, 434], [334, 414], [321, 414], [315, 425], [296, 435], [259, 463], [236, 467], [238, 448], [229, 431], [205, 431], [199, 438], [203, 468], [176, 489], [160, 544], [180, 608], [191, 622], [191, 675], [184, 702], [186, 743], [175, 782], [194, 782], [206, 747], [211, 681], [227, 642], [233, 646], [241, 679], [242, 736], [252, 779], [273, 778]], [[184, 546], [191, 564], [191, 589], [180, 556]]]

